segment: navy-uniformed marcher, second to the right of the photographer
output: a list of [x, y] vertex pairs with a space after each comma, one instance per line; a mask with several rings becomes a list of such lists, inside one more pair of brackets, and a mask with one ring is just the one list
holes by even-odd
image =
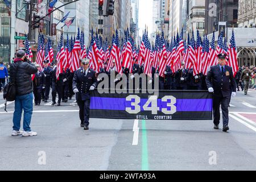
[[49, 99], [49, 91], [50, 91], [50, 87], [51, 87], [51, 72], [52, 72], [52, 68], [49, 67], [49, 60], [44, 60], [44, 76], [46, 77], [46, 88], [43, 89], [43, 93], [44, 93], [44, 102], [47, 102], [47, 100]]

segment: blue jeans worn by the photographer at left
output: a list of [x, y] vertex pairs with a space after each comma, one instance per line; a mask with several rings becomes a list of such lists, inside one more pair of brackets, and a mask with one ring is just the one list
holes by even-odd
[[23, 116], [23, 130], [31, 131], [30, 122], [33, 113], [33, 93], [28, 93], [23, 96], [16, 96], [15, 98], [15, 109], [13, 114], [13, 129], [19, 131], [20, 120], [22, 117], [22, 111], [24, 110]]

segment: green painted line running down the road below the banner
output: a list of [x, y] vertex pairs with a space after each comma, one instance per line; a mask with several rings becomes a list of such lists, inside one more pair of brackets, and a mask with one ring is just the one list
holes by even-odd
[[146, 121], [142, 120], [142, 171], [148, 171], [148, 152], [147, 152], [147, 130]]

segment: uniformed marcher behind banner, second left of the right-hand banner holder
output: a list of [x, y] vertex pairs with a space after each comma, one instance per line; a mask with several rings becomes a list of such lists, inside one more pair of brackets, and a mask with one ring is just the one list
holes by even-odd
[[188, 90], [189, 72], [182, 63], [182, 68], [175, 73], [175, 88], [177, 90]]

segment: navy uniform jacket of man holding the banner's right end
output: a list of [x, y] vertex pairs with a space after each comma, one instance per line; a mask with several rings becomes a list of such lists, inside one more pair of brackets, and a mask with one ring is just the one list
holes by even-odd
[[[233, 76], [232, 68], [225, 65], [224, 75], [221, 75], [220, 65], [210, 67], [210, 71], [206, 77], [207, 88], [213, 88], [214, 96], [228, 97], [230, 96], [230, 88], [232, 92], [236, 92], [236, 81]], [[231, 84], [231, 85], [230, 85]]]

